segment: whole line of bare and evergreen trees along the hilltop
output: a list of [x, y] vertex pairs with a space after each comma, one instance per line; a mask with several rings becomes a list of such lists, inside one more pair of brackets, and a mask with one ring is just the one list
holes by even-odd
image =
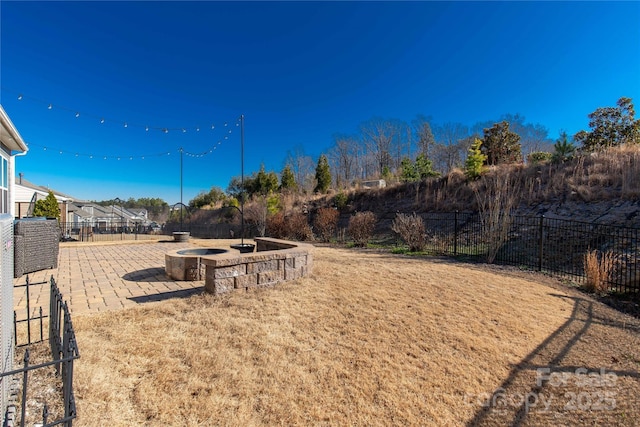
[[[333, 144], [316, 161], [302, 147], [287, 153], [279, 174], [264, 170], [245, 178], [244, 189], [235, 177], [226, 195], [212, 188], [190, 205], [201, 207], [224, 200], [276, 191], [326, 192], [348, 188], [371, 179], [419, 183], [427, 177], [446, 175], [454, 168], [477, 178], [486, 166], [528, 161], [566, 161], [576, 152], [592, 152], [625, 143], [640, 143], [640, 120], [630, 98], [616, 107], [602, 107], [588, 115], [589, 131], [572, 138], [562, 132], [555, 141], [541, 124], [527, 123], [519, 114], [505, 114], [497, 121], [435, 123], [418, 115], [410, 122], [374, 117], [354, 134], [335, 134]], [[244, 191], [243, 191], [244, 190]]]

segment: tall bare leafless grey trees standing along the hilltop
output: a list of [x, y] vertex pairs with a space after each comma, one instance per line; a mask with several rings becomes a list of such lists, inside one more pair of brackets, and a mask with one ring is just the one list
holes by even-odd
[[[497, 123], [501, 125], [495, 133], [517, 134], [518, 145], [511, 150], [528, 154], [549, 149], [553, 144], [544, 126], [526, 123], [523, 116], [504, 115]], [[333, 136], [333, 144], [325, 154], [332, 185], [344, 188], [369, 179], [405, 180], [403, 173], [410, 169], [407, 162], [415, 162], [419, 156], [422, 161], [430, 162], [432, 172], [446, 175], [453, 168], [464, 166], [474, 140], [483, 138], [485, 129], [491, 129], [495, 124], [492, 121], [474, 126], [454, 122], [436, 124], [423, 115], [411, 122], [374, 117], [361, 123], [356, 134]], [[490, 161], [494, 161], [493, 157]], [[285, 162], [302, 189], [314, 188], [314, 162], [302, 149], [289, 152]], [[432, 176], [432, 172], [423, 175]]]

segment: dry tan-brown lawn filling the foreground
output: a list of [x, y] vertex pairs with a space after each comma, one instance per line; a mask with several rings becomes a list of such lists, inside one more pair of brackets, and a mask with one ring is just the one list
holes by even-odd
[[[637, 425], [640, 416], [637, 319], [506, 268], [316, 248], [313, 275], [290, 284], [74, 324], [77, 426]], [[551, 380], [538, 385], [545, 368]]]

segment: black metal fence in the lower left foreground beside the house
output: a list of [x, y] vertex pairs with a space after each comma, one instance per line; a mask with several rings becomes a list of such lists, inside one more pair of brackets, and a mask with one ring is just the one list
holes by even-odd
[[[26, 347], [23, 367], [9, 372], [0, 374], [0, 377], [11, 378], [14, 375], [21, 375], [21, 389], [22, 399], [20, 404], [20, 425], [24, 426], [26, 421], [26, 410], [29, 394], [29, 376], [35, 370], [42, 369], [55, 369], [56, 376], [61, 380], [62, 386], [62, 410], [61, 416], [56, 420], [50, 421], [50, 407], [44, 403], [42, 407], [42, 426], [50, 427], [56, 425], [63, 425], [71, 427], [73, 420], [76, 418], [76, 402], [73, 392], [73, 363], [74, 360], [80, 357], [78, 351], [78, 345], [76, 342], [75, 332], [73, 330], [73, 324], [71, 322], [71, 313], [67, 303], [63, 300], [62, 294], [56, 285], [53, 277], [49, 281], [50, 293], [49, 293], [49, 314], [43, 315], [42, 307], [39, 308], [39, 314], [32, 316], [32, 310], [29, 300], [29, 288], [32, 286], [46, 285], [47, 282], [29, 283], [29, 276], [26, 277], [26, 283], [24, 285], [17, 285], [16, 287], [24, 287], [26, 292], [26, 318], [18, 319], [17, 314], [14, 312], [14, 335], [15, 345], [17, 348]], [[45, 363], [31, 364], [30, 345], [38, 342], [44, 342], [43, 337], [43, 321], [45, 318], [49, 319], [49, 333], [48, 342], [51, 351], [51, 360]], [[26, 336], [24, 336], [24, 342], [18, 337], [18, 326], [26, 324]], [[36, 324], [36, 332], [39, 332], [39, 339], [32, 339], [32, 323]], [[39, 328], [37, 328], [39, 326]]]

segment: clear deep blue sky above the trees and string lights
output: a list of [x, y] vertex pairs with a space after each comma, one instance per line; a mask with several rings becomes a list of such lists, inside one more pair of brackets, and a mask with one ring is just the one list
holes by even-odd
[[374, 116], [587, 129], [640, 102], [639, 24], [639, 2], [3, 0], [0, 101], [29, 181], [172, 204], [182, 147], [187, 203], [240, 174], [240, 115], [247, 174]]

